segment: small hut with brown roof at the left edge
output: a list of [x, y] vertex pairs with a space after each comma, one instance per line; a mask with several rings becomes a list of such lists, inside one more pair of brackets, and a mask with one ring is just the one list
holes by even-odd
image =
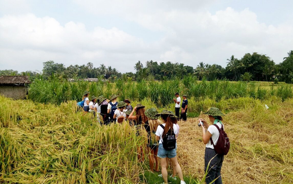
[[14, 100], [25, 99], [28, 84], [28, 76], [0, 76], [0, 95]]

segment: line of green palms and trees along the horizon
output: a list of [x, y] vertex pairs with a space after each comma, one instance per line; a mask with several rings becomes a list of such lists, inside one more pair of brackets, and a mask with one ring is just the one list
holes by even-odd
[[[275, 64], [270, 57], [265, 54], [247, 53], [241, 59], [237, 59], [232, 55], [227, 60], [227, 66], [223, 68], [218, 64], [205, 64], [200, 62], [195, 68], [185, 66], [183, 63], [172, 62], [155, 62], [153, 60], [145, 63], [138, 61], [134, 65], [135, 73], [121, 73], [111, 66], [106, 67], [100, 64], [94, 67], [93, 63], [88, 62], [86, 65], [70, 65], [65, 67], [62, 63], [54, 63], [47, 61], [43, 63], [43, 70], [40, 74], [36, 71], [26, 71], [18, 73], [14, 70], [0, 70], [0, 75], [29, 75], [34, 78], [42, 75], [49, 78], [54, 75], [60, 79], [84, 79], [84, 78], [104, 78], [115, 80], [117, 78], [132, 78], [136, 81], [145, 80], [168, 80], [178, 77], [180, 79], [185, 75], [196, 76], [199, 80], [205, 78], [207, 80], [228, 79], [231, 81], [284, 81], [293, 83], [293, 50], [287, 53], [283, 61]], [[273, 76], [275, 76], [274, 79]]]

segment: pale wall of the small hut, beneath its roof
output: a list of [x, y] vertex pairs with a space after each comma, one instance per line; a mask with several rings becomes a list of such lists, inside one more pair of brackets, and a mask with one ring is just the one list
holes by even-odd
[[27, 86], [0, 86], [0, 95], [14, 100], [25, 99]]

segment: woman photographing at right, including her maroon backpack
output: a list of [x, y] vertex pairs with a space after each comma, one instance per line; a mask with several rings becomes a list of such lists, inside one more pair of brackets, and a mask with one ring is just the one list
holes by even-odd
[[[210, 108], [206, 113], [209, 115], [209, 125], [206, 120], [200, 118], [198, 126], [202, 127], [202, 140], [205, 146], [205, 178], [206, 183], [222, 184], [221, 168], [226, 155], [230, 148], [229, 138], [224, 132], [222, 116], [224, 114], [215, 107]], [[207, 130], [206, 130], [207, 128]], [[209, 165], [209, 166], [208, 166]]]

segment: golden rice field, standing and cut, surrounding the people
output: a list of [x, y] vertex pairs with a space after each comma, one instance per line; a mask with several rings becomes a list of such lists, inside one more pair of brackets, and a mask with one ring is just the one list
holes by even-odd
[[[143, 130], [137, 137], [127, 123], [100, 126], [77, 110], [76, 101], [56, 105], [0, 96], [0, 103], [0, 183], [162, 182], [157, 173], [147, 171], [147, 159], [137, 162], [136, 146], [147, 141]], [[141, 103], [146, 108], [156, 105], [146, 98]], [[223, 183], [293, 183], [291, 98], [190, 100], [194, 111], [210, 106], [227, 112], [223, 122], [231, 149], [222, 167]], [[205, 177], [197, 119], [178, 122], [178, 161], [187, 183], [194, 184]]]

